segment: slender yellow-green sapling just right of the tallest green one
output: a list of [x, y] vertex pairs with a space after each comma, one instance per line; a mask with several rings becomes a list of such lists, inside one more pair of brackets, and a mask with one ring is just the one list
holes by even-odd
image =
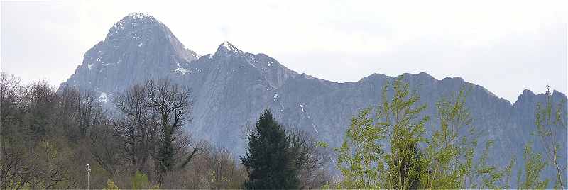
[[428, 172], [422, 174], [422, 186], [426, 189], [465, 187], [474, 153], [474, 147], [470, 146], [472, 140], [467, 135], [459, 135], [464, 128], [469, 133], [474, 131], [465, 101], [466, 89], [461, 88], [457, 96], [449, 100], [442, 98], [436, 104], [439, 125], [432, 125], [432, 136], [425, 148]]

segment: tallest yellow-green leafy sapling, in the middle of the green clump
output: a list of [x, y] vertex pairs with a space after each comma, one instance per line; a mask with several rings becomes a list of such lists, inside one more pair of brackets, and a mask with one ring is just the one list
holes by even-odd
[[425, 142], [424, 125], [430, 118], [420, 116], [426, 106], [416, 105], [420, 96], [410, 91], [403, 77], [397, 77], [391, 88], [394, 91], [392, 100], [386, 100], [386, 90], [383, 89], [383, 103], [378, 106], [377, 114], [379, 126], [387, 129], [391, 145], [391, 151], [385, 156], [389, 175], [387, 187], [416, 189], [425, 162], [418, 145]]

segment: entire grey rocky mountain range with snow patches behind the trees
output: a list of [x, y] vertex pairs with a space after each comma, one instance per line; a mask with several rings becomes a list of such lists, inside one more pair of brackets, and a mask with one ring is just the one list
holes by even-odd
[[[511, 104], [459, 77], [438, 80], [426, 73], [403, 75], [417, 90], [421, 103], [427, 104], [424, 114], [432, 116], [428, 125], [437, 124], [435, 102], [469, 86], [466, 105], [479, 140], [496, 140], [491, 154], [497, 156], [491, 162], [505, 165], [515, 156], [522, 163], [522, 147], [530, 141], [535, 142], [535, 150], [542, 148], [530, 133], [535, 130], [535, 105], [545, 101], [543, 94], [525, 90]], [[61, 86], [94, 89], [111, 99], [111, 94], [131, 84], [162, 77], [192, 89], [193, 122], [186, 126], [187, 132], [227, 147], [236, 155], [245, 151], [241, 128], [254, 125], [266, 108], [281, 123], [338, 147], [351, 116], [362, 108], [376, 106], [381, 101], [382, 86], [393, 82], [393, 77], [383, 74], [371, 74], [357, 82], [329, 82], [298, 74], [272, 57], [241, 51], [228, 42], [219, 45], [214, 54], [199, 57], [160, 21], [135, 13], [116, 23], [104, 41], [87, 51], [82, 65]], [[552, 96], [555, 102], [567, 99], [557, 91]], [[567, 104], [562, 106], [566, 110]], [[557, 133], [564, 134], [559, 135], [558, 142], [564, 145], [561, 155], [567, 155], [566, 130]]]

